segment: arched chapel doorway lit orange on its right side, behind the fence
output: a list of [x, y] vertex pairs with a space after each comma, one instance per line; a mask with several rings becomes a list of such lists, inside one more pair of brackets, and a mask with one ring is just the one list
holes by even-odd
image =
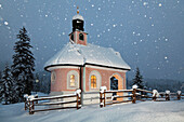
[[[109, 80], [110, 80], [110, 90], [122, 90], [123, 89], [123, 78], [119, 73], [114, 73]], [[118, 94], [113, 94], [113, 95], [122, 96], [123, 93], [118, 93]], [[114, 100], [122, 100], [122, 98], [117, 98]]]

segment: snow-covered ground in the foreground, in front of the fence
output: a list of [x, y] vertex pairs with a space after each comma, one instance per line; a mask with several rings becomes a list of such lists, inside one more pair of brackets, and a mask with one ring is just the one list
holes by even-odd
[[79, 110], [53, 110], [29, 114], [24, 103], [0, 105], [0, 122], [184, 122], [184, 100], [139, 101]]

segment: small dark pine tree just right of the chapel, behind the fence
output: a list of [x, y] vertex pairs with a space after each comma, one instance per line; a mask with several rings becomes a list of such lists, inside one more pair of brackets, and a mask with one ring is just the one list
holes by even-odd
[[135, 78], [133, 79], [133, 85], [134, 84], [136, 84], [139, 86], [139, 89], [143, 89], [144, 87], [143, 77], [141, 76], [139, 68], [136, 68]]

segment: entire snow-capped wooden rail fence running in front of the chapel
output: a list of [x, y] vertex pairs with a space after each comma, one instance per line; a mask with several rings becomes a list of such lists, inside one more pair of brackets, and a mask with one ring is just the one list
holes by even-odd
[[[70, 108], [81, 108], [81, 100], [89, 99], [100, 99], [100, 107], [106, 107], [107, 105], [121, 104], [121, 103], [132, 103], [136, 104], [136, 100], [145, 101], [145, 100], [154, 100], [154, 101], [166, 101], [171, 99], [183, 99], [184, 94], [181, 91], [176, 93], [170, 93], [170, 91], [158, 92], [142, 90], [137, 87], [132, 87], [131, 90], [115, 90], [107, 91], [106, 86], [102, 86], [100, 92], [87, 92], [83, 94], [97, 94], [100, 96], [91, 96], [90, 98], [81, 99], [81, 90], [77, 90], [75, 94], [69, 95], [58, 95], [58, 96], [42, 96], [38, 97], [38, 95], [25, 95], [25, 110], [29, 110], [29, 114], [34, 114], [38, 111], [48, 111], [48, 110], [57, 110], [57, 109], [70, 109]], [[65, 98], [73, 98], [66, 100]], [[76, 98], [76, 99], [75, 99]], [[51, 101], [57, 100], [57, 101]], [[64, 106], [69, 104], [76, 104], [76, 106]], [[57, 107], [52, 107], [55, 105], [60, 105]], [[61, 106], [63, 105], [63, 106]], [[50, 108], [44, 109], [35, 109], [38, 106], [49, 106]]]

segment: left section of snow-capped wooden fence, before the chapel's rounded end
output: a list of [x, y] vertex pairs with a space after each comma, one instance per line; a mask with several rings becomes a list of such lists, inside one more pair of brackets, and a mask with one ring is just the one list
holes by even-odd
[[[69, 109], [69, 108], [81, 108], [81, 90], [77, 90], [74, 94], [68, 95], [58, 95], [58, 96], [47, 96], [47, 97], [38, 97], [38, 95], [25, 95], [25, 110], [29, 109], [29, 114], [34, 114], [38, 111], [47, 111], [47, 110], [56, 110], [56, 109]], [[76, 100], [63, 100], [64, 98], [75, 98]], [[48, 101], [49, 100], [49, 101]], [[54, 100], [54, 101], [50, 101]], [[76, 103], [76, 106], [73, 107], [64, 107], [64, 105], [67, 104], [74, 104]], [[53, 107], [54, 105], [57, 105], [57, 107]], [[63, 105], [63, 106], [61, 106]], [[50, 108], [45, 109], [35, 109], [36, 106], [50, 106]]]

